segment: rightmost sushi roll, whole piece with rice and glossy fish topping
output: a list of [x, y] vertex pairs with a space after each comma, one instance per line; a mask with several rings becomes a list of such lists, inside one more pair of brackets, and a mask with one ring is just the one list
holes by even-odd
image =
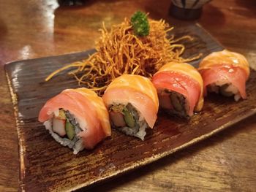
[[214, 92], [233, 96], [236, 101], [246, 99], [246, 80], [249, 64], [244, 55], [222, 50], [203, 58], [198, 68], [203, 77], [204, 93]]

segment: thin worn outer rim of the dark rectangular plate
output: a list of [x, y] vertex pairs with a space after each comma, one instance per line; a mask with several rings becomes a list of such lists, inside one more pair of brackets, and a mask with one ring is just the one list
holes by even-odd
[[[200, 28], [200, 30], [202, 30], [206, 34], [208, 34], [208, 36], [211, 37], [211, 41], [215, 41], [219, 45], [219, 47], [222, 47], [223, 49], [225, 49], [225, 47], [222, 44], [220, 44], [219, 41], [217, 39], [215, 39], [210, 33], [208, 33], [208, 31], [206, 31], [206, 29], [203, 28], [203, 26], [201, 26], [199, 23], [195, 23], [195, 25], [198, 28]], [[76, 53], [77, 54], [79, 54], [79, 53], [86, 53], [87, 51], [91, 52], [93, 50], [94, 49], [90, 49], [90, 50], [85, 50], [85, 51], [80, 51], [80, 52], [67, 53], [67, 54], [63, 54], [63, 55], [73, 55], [73, 54], [76, 54]], [[10, 95], [11, 95], [13, 109], [14, 109], [14, 114], [15, 114], [15, 123], [16, 123], [17, 131], [18, 131], [18, 150], [19, 150], [18, 153], [19, 153], [19, 161], [20, 161], [20, 170], [19, 170], [20, 171], [20, 173], [19, 173], [20, 174], [20, 177], [19, 177], [20, 182], [19, 183], [20, 183], [21, 191], [25, 191], [25, 185], [26, 184], [23, 182], [23, 180], [25, 179], [25, 177], [24, 177], [24, 175], [25, 175], [25, 164], [24, 164], [22, 142], [20, 141], [21, 140], [21, 137], [20, 137], [20, 127], [19, 127], [19, 123], [18, 123], [18, 107], [17, 107], [17, 104], [18, 104], [18, 102], [17, 102], [18, 99], [17, 98], [18, 97], [17, 97], [16, 93], [13, 91], [12, 83], [11, 83], [10, 76], [9, 76], [7, 70], [9, 69], [10, 66], [12, 66], [13, 64], [16, 64], [16, 63], [18, 63], [20, 61], [37, 61], [38, 59], [42, 59], [42, 58], [56, 58], [56, 57], [59, 57], [59, 56], [61, 56], [61, 55], [52, 55], [52, 56], [46, 56], [46, 57], [41, 57], [41, 58], [31, 58], [31, 59], [25, 59], [25, 60], [10, 61], [10, 62], [7, 62], [6, 64], [4, 64], [4, 72], [5, 72], [6, 77], [7, 77], [7, 84], [8, 84], [9, 90], [10, 90]], [[166, 157], [168, 155], [176, 153], [178, 150], [182, 150], [182, 149], [184, 149], [186, 147], [189, 147], [191, 145], [196, 144], [197, 142], [203, 141], [204, 139], [207, 139], [208, 137], [211, 137], [214, 134], [217, 134], [219, 131], [225, 130], [225, 128], [229, 128], [230, 126], [233, 126], [234, 124], [238, 123], [239, 121], [245, 120], [246, 118], [249, 118], [252, 115], [255, 115], [255, 113], [256, 113], [256, 109], [252, 109], [249, 112], [249, 115], [248, 114], [247, 115], [242, 115], [240, 118], [238, 118], [238, 120], [234, 120], [231, 123], [226, 123], [226, 124], [220, 126], [219, 128], [214, 129], [214, 131], [211, 131], [208, 134], [202, 135], [200, 137], [196, 137], [196, 138], [192, 139], [191, 141], [185, 143], [184, 145], [181, 145], [179, 147], [174, 148], [173, 150], [170, 150], [170, 151], [165, 152], [165, 153], [161, 153], [159, 155], [151, 156], [151, 158], [148, 158], [148, 161], [146, 161], [146, 163], [143, 164], [142, 166], [146, 166], [148, 164], [151, 164], [154, 161], [159, 160], [160, 158], [164, 158], [164, 157]], [[22, 166], [21, 166], [21, 162], [23, 162], [23, 169], [22, 169]], [[129, 171], [134, 171], [135, 169], [139, 169], [142, 166], [141, 166], [141, 164], [137, 164], [136, 166], [129, 166], [126, 169], [123, 169], [122, 171], [116, 172], [116, 173], [111, 174], [110, 176], [107, 176], [107, 177], [103, 177], [102, 179], [97, 180], [97, 181], [92, 182], [92, 183], [89, 183], [88, 185], [80, 184], [80, 185], [78, 185], [78, 187], [67, 189], [67, 191], [75, 191], [75, 190], [78, 190], [78, 189], [81, 189], [81, 188], [93, 187], [92, 185], [97, 185], [99, 183], [103, 183], [106, 180], [113, 179], [114, 177], [118, 177], [118, 175], [121, 175], [121, 174], [126, 174]], [[23, 171], [23, 174], [22, 174], [22, 171]]]

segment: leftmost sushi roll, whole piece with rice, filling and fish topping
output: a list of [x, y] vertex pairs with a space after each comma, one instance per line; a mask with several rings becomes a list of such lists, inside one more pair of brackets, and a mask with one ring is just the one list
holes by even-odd
[[87, 88], [66, 89], [48, 100], [39, 112], [51, 136], [77, 154], [110, 136], [108, 111], [102, 99]]

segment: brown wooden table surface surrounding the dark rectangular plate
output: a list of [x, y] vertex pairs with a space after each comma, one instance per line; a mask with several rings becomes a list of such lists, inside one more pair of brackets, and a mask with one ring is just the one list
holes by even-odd
[[[137, 9], [170, 18], [170, 0], [88, 1], [60, 8], [49, 1], [0, 1], [0, 191], [18, 190], [18, 137], [3, 66], [8, 61], [87, 50], [109, 27]], [[214, 0], [197, 20], [230, 50], [256, 66], [256, 1]], [[210, 139], [125, 174], [94, 190], [255, 191], [256, 117]]]

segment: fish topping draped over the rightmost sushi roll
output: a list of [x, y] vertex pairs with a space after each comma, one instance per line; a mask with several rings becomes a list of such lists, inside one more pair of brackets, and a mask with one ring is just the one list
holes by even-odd
[[217, 81], [227, 81], [234, 85], [241, 97], [246, 99], [246, 80], [249, 78], [249, 63], [239, 53], [222, 50], [214, 52], [203, 58], [198, 68], [206, 86]]

